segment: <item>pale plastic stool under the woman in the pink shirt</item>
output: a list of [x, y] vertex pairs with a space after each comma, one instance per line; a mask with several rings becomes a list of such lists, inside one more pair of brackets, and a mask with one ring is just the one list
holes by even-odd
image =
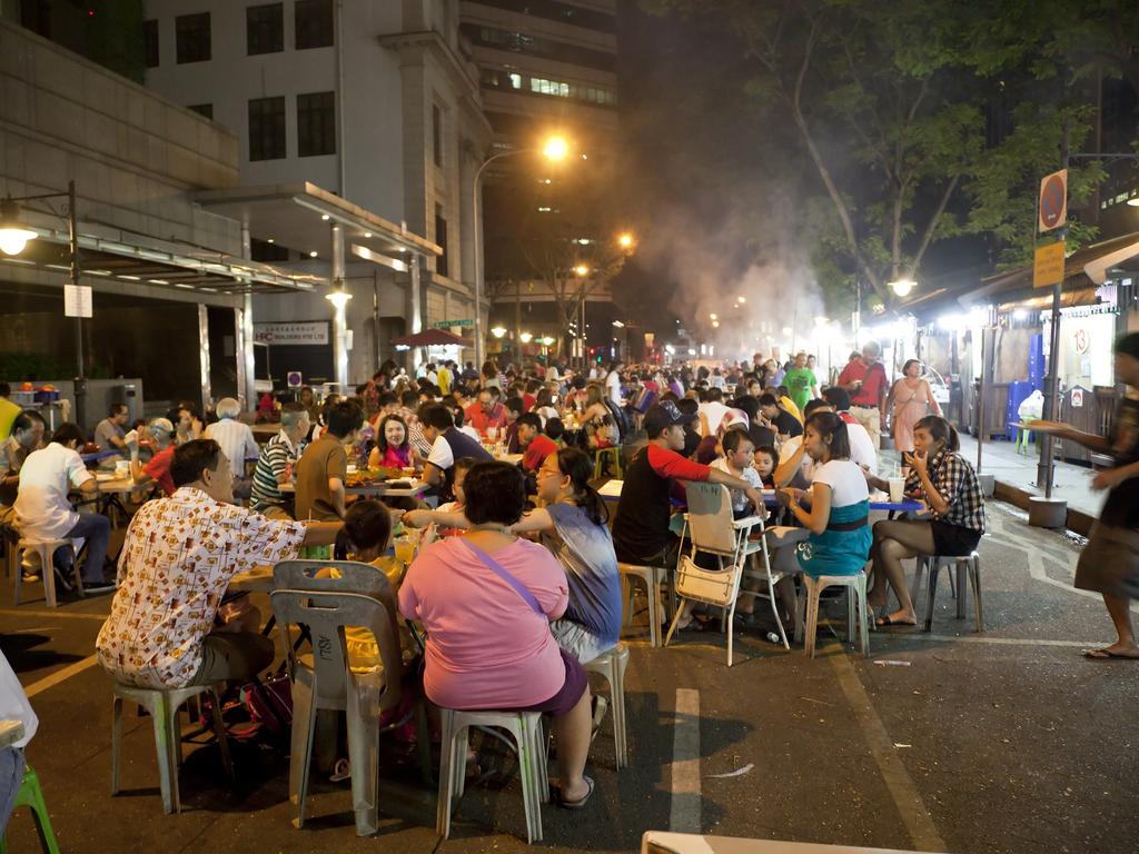
[[[470, 726], [497, 726], [514, 736], [522, 771], [522, 800], [526, 812], [526, 841], [542, 840], [541, 803], [549, 798], [546, 779], [546, 738], [538, 712], [459, 712], [441, 708], [443, 733], [439, 759], [439, 805], [435, 830], [451, 835], [451, 798], [462, 797], [466, 783], [467, 731]], [[543, 794], [544, 793], [544, 794]]]

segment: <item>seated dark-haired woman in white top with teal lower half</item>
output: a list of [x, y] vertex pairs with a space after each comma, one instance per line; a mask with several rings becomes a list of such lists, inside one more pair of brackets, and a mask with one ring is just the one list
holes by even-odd
[[851, 461], [846, 424], [834, 412], [806, 419], [803, 447], [817, 467], [811, 488], [784, 490], [790, 511], [811, 534], [798, 547], [798, 564], [813, 577], [857, 575], [870, 552], [870, 492]]

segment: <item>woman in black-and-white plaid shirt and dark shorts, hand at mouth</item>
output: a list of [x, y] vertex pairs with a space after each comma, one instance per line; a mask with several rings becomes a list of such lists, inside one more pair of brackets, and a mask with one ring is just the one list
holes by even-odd
[[[917, 625], [902, 560], [918, 555], [969, 555], [981, 541], [985, 529], [984, 496], [973, 466], [959, 450], [957, 430], [944, 418], [928, 416], [913, 426], [913, 453], [904, 454], [910, 467], [906, 494], [924, 501], [931, 518], [891, 519], [874, 526], [870, 607], [886, 606], [887, 583], [901, 605], [893, 614], [879, 617], [878, 625]], [[885, 481], [869, 473], [867, 481], [875, 488], [888, 488]]]

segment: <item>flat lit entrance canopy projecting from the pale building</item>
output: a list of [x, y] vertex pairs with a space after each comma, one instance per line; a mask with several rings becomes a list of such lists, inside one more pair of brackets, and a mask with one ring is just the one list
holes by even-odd
[[[379, 255], [399, 258], [407, 253], [442, 255], [429, 240], [360, 207], [313, 183], [232, 187], [205, 190], [195, 196], [212, 213], [248, 223], [249, 236], [304, 255], [328, 257], [328, 227], [344, 227], [347, 245], [359, 245]], [[347, 251], [352, 254], [352, 249]]]

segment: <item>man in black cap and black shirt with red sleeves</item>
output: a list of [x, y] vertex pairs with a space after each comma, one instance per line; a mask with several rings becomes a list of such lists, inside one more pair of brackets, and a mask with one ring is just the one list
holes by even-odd
[[685, 425], [696, 419], [683, 414], [672, 401], [645, 413], [648, 445], [625, 468], [621, 501], [613, 520], [613, 545], [617, 560], [647, 566], [674, 566], [679, 537], [669, 529], [673, 481], [708, 481], [747, 493], [762, 514], [763, 498], [743, 478], [682, 457]]

